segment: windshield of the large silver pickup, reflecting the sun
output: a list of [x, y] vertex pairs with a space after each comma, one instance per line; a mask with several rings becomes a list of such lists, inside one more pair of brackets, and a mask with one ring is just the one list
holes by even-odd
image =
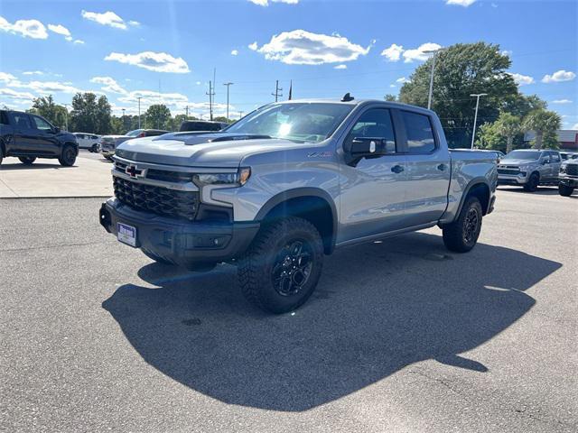
[[327, 103], [273, 104], [257, 109], [225, 131], [318, 143], [335, 131], [352, 107]]

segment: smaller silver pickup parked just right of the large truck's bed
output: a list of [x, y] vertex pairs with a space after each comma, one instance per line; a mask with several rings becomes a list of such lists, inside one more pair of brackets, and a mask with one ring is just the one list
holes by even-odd
[[560, 153], [552, 150], [517, 149], [498, 165], [498, 184], [536, 191], [539, 185], [558, 185]]

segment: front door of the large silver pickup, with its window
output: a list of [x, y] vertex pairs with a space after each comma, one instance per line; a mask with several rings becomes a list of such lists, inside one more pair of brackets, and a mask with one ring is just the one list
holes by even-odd
[[396, 134], [388, 108], [369, 108], [359, 115], [343, 141], [347, 149], [356, 138], [385, 140], [387, 154], [343, 164], [340, 180], [338, 243], [403, 228], [406, 157], [397, 152]]

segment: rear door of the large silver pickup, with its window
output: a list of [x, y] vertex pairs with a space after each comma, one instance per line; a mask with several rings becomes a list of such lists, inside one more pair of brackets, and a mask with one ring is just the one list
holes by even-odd
[[406, 152], [406, 226], [431, 224], [447, 207], [451, 160], [430, 115], [396, 110]]

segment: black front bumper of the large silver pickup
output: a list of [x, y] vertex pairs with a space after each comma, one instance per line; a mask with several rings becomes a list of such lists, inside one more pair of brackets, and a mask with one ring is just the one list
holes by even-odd
[[136, 228], [136, 247], [187, 268], [227, 262], [244, 253], [259, 230], [258, 222], [188, 222], [137, 211], [108, 199], [100, 207], [100, 225], [117, 235], [118, 223]]

